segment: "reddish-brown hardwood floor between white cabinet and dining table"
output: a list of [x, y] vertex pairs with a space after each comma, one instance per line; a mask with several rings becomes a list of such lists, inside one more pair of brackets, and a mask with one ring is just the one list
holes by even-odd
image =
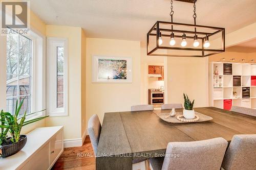
[[51, 170], [95, 170], [95, 164], [91, 140], [86, 136], [82, 147], [64, 148]]

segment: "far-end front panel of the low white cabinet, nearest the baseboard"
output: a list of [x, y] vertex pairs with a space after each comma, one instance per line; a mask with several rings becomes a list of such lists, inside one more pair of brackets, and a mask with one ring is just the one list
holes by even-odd
[[63, 150], [62, 145], [62, 130], [55, 134], [50, 140], [50, 166], [57, 159], [60, 152]]

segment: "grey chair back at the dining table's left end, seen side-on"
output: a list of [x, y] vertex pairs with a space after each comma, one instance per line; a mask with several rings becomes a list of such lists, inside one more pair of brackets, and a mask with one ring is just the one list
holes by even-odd
[[99, 136], [101, 131], [101, 124], [99, 122], [99, 117], [97, 114], [92, 115], [88, 121], [88, 133], [93, 145], [93, 151], [97, 154]]

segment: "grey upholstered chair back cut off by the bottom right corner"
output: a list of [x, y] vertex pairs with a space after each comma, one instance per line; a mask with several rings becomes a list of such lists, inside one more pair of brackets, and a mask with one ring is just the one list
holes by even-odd
[[234, 135], [222, 167], [225, 170], [256, 168], [256, 135]]

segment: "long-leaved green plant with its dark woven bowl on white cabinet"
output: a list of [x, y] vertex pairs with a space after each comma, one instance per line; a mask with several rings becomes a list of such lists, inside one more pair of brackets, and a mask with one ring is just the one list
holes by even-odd
[[[0, 113], [0, 116], [1, 116], [0, 149], [2, 152], [1, 154], [2, 157], [11, 156], [23, 149], [23, 147], [27, 142], [27, 136], [20, 135], [20, 131], [22, 130], [23, 126], [32, 124], [34, 122], [37, 122], [38, 120], [48, 117], [48, 116], [43, 116], [43, 117], [38, 117], [38, 118], [29, 119], [25, 121], [26, 116], [38, 113], [40, 111], [30, 113], [30, 114], [27, 114], [27, 112], [25, 111], [24, 115], [19, 116], [19, 111], [20, 111], [20, 108], [22, 108], [24, 99], [20, 102], [19, 106], [18, 106], [18, 100], [16, 101], [16, 109], [13, 115], [9, 112], [4, 112], [3, 110]], [[41, 110], [41, 111], [44, 111], [44, 110]], [[8, 132], [10, 132], [10, 135], [11, 135], [10, 137], [7, 136]]]

